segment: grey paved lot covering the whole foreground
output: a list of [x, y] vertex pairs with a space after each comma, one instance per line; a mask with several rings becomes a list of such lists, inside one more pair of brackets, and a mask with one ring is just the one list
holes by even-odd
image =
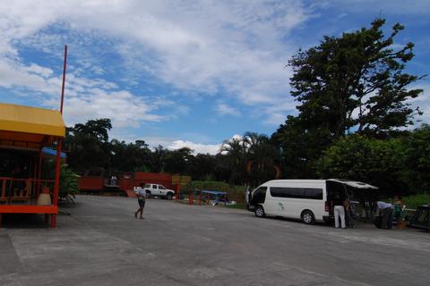
[[340, 230], [245, 210], [79, 196], [57, 228], [10, 214], [0, 285], [428, 285], [430, 233]]

